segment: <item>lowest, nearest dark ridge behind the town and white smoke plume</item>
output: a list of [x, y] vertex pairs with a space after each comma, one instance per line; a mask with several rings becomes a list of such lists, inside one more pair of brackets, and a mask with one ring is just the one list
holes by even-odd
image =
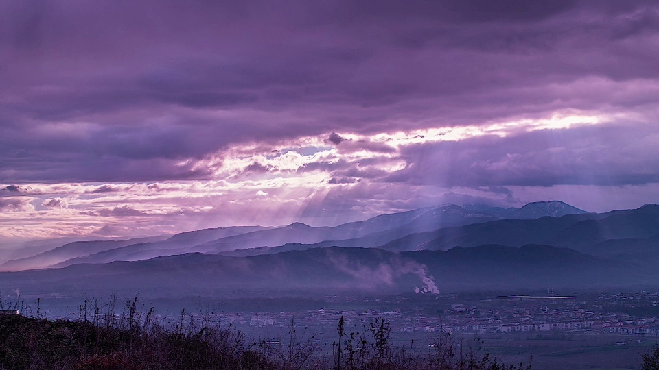
[[[424, 267], [425, 266], [425, 267]], [[139, 262], [76, 264], [63, 269], [0, 273], [0, 288], [23, 294], [139, 293], [192, 295], [386, 294], [423, 287], [433, 276], [441, 289], [641, 286], [659, 284], [659, 271], [544, 245], [483, 245], [449, 251], [315, 248], [251, 257], [186, 254]], [[315, 293], [314, 293], [315, 292]]]

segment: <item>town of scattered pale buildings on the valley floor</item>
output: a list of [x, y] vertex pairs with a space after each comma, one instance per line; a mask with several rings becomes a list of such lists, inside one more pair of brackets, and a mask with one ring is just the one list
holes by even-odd
[[[629, 334], [656, 341], [659, 336], [659, 292], [583, 293], [579, 295], [449, 295], [395, 296], [389, 299], [325, 297], [343, 310], [299, 312], [224, 312], [220, 325], [235, 325], [246, 333], [275, 335], [295, 325], [309, 335], [336, 336], [343, 317], [347, 328], [366, 328], [376, 318], [391, 324], [404, 338], [439, 332], [461, 334]], [[395, 334], [394, 334], [395, 335]]]

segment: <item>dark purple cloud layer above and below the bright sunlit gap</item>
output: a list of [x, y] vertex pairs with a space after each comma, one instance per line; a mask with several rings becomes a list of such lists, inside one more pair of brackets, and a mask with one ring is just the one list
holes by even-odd
[[[212, 171], [194, 160], [234, 144], [332, 132], [340, 153], [393, 155], [336, 132], [561, 110], [656, 123], [646, 112], [659, 100], [658, 14], [656, 1], [1, 3], [0, 179], [200, 180]], [[654, 161], [640, 159], [654, 149], [611, 130], [566, 134], [564, 149], [546, 133], [413, 145], [393, 175], [347, 162], [300, 172], [446, 186], [656, 182]]]

